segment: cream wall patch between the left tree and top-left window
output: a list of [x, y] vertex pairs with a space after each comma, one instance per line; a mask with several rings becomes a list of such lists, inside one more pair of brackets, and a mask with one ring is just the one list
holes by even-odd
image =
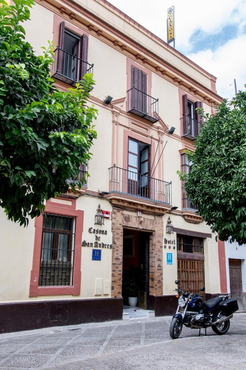
[[37, 55], [43, 53], [41, 47], [47, 47], [48, 40], [53, 40], [53, 18], [54, 13], [36, 4], [30, 10], [30, 20], [23, 24], [25, 40], [31, 44]]

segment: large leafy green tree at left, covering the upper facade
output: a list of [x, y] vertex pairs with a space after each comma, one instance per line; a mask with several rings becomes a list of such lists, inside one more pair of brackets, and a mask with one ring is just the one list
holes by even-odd
[[50, 78], [53, 44], [36, 56], [24, 40], [20, 23], [30, 18], [33, 0], [0, 3], [0, 205], [25, 226], [90, 159], [97, 110], [87, 100], [95, 82], [85, 74], [76, 88], [58, 91]]

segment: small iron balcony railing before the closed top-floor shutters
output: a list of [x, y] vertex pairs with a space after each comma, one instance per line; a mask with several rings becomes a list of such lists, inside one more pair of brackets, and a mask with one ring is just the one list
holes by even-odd
[[136, 114], [152, 123], [159, 121], [158, 99], [145, 94], [135, 87], [132, 87], [126, 93], [128, 101], [127, 112]]

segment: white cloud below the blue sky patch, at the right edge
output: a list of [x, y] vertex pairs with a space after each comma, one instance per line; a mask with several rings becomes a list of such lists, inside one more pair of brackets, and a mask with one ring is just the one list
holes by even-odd
[[[187, 56], [215, 75], [218, 78], [216, 83], [218, 94], [230, 99], [235, 95], [234, 78], [237, 90], [245, 90], [245, 45], [246, 35], [240, 35], [234, 40], [229, 40], [215, 51], [210, 49], [202, 50]], [[232, 85], [229, 86], [230, 84]]]

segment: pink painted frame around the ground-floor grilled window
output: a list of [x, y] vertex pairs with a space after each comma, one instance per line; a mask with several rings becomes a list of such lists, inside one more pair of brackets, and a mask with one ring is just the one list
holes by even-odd
[[[67, 198], [62, 198], [66, 199]], [[70, 199], [69, 199], [70, 200]], [[51, 296], [51, 295], [80, 295], [81, 289], [81, 242], [83, 232], [83, 217], [84, 211], [76, 210], [76, 199], [71, 199], [72, 205], [65, 205], [61, 203], [54, 203], [50, 200], [45, 205], [45, 212], [55, 213], [58, 215], [71, 216], [76, 218], [75, 228], [75, 245], [74, 245], [74, 271], [73, 271], [73, 285], [72, 286], [38, 286], [39, 270], [40, 270], [40, 256], [42, 246], [42, 224], [43, 216], [35, 218], [35, 236], [33, 249], [33, 268], [30, 277], [29, 297], [37, 296]]]

